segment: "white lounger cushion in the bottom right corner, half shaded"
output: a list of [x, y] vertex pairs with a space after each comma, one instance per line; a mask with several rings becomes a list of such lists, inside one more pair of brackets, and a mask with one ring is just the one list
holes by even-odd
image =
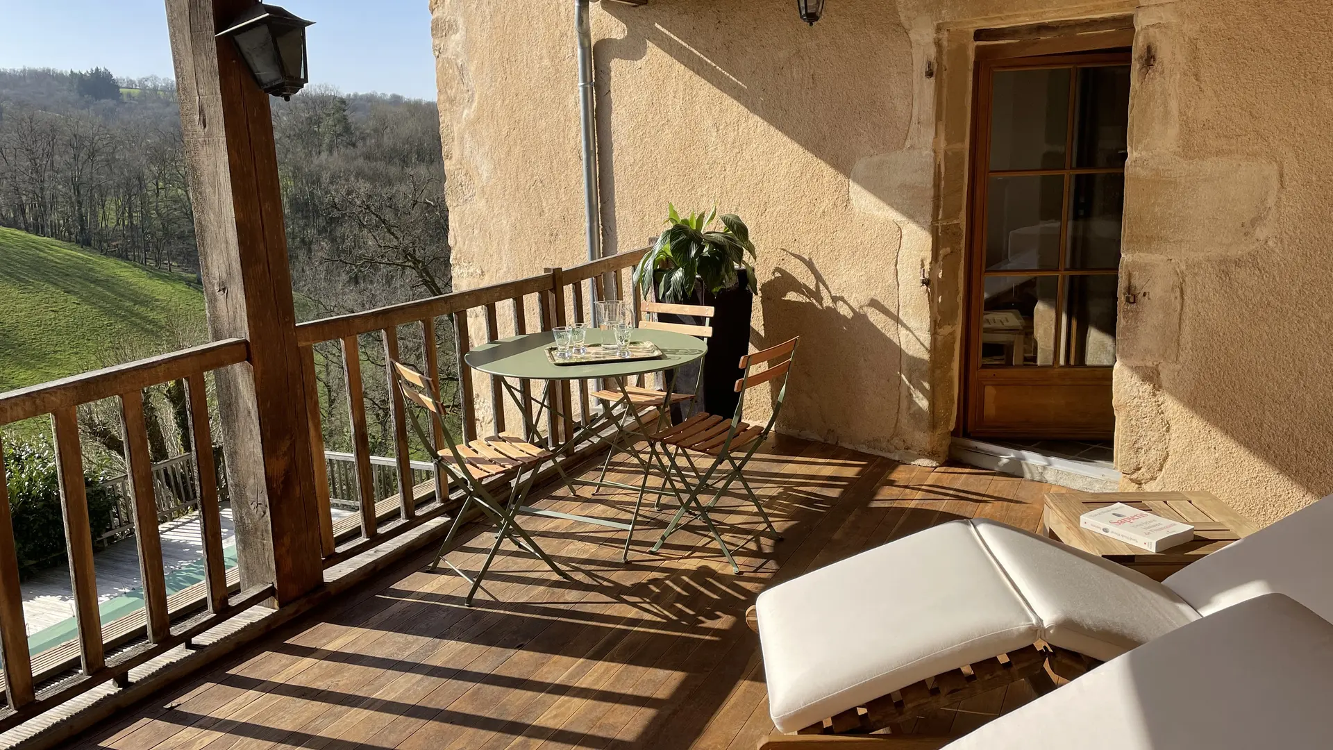
[[946, 750], [1333, 747], [1333, 625], [1280, 594], [1110, 661]]

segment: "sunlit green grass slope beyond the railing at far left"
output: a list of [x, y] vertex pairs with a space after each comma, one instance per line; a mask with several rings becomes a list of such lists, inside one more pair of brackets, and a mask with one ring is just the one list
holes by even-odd
[[0, 227], [0, 392], [175, 350], [203, 320], [193, 276]]

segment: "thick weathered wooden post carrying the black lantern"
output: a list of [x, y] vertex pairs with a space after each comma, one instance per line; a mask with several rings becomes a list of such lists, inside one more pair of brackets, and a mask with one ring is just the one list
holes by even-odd
[[241, 587], [285, 603], [324, 582], [305, 383], [268, 95], [215, 33], [255, 0], [167, 0], [200, 275], [215, 339], [249, 366], [215, 375]]

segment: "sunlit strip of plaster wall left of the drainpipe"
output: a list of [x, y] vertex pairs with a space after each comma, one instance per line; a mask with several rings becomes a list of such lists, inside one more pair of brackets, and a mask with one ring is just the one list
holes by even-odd
[[573, 3], [431, 12], [455, 287], [585, 262]]

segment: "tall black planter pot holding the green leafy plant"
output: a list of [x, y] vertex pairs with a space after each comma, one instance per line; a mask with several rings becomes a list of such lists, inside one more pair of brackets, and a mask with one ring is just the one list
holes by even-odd
[[[736, 380], [740, 380], [742, 371], [738, 364], [741, 358], [749, 352], [754, 295], [745, 286], [745, 278], [741, 274], [732, 288], [713, 294], [698, 284], [694, 287], [693, 299], [682, 302], [713, 307], [713, 338], [708, 340], [708, 354], [704, 355], [704, 386], [700, 388], [702, 403], [700, 406], [702, 411], [730, 419], [736, 414], [736, 402], [740, 400], [740, 394], [736, 392]], [[664, 323], [704, 324], [702, 319], [692, 315], [661, 314], [659, 319]], [[689, 364], [680, 368], [672, 390], [693, 394], [697, 382], [698, 366]], [[678, 412], [672, 416], [676, 420], [681, 418]]]

